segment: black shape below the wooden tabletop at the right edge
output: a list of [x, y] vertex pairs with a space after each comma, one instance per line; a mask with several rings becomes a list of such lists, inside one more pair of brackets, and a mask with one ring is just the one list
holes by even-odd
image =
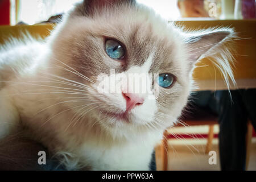
[[256, 89], [197, 92], [192, 105], [218, 114], [221, 170], [245, 170], [248, 119], [256, 129]]

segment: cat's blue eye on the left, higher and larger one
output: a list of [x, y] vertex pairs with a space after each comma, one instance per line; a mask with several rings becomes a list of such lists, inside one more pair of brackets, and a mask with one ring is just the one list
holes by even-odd
[[116, 40], [112, 40], [112, 39], [106, 40], [105, 49], [106, 49], [106, 53], [112, 59], [122, 59], [123, 56], [125, 56], [125, 49]]

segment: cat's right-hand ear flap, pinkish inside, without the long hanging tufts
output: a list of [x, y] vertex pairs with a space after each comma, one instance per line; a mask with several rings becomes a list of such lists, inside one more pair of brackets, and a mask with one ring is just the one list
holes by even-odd
[[223, 45], [229, 39], [234, 38], [232, 28], [221, 30], [205, 30], [185, 35], [185, 43], [189, 49], [189, 60], [195, 63], [201, 58], [214, 53], [222, 53], [223, 50], [229, 49], [229, 46]]

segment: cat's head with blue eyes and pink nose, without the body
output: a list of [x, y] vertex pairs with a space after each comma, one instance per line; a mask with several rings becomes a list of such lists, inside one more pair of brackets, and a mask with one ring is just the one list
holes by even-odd
[[[77, 74], [64, 70], [59, 74], [86, 85], [84, 97], [89, 98], [88, 104], [94, 102], [88, 114], [101, 126], [162, 130], [176, 121], [187, 103], [192, 62], [199, 57], [189, 50], [198, 36], [185, 38], [144, 6], [108, 2], [77, 5], [60, 28], [53, 55]], [[110, 82], [113, 73], [115, 77], [125, 75], [128, 83]], [[146, 76], [138, 85], [129, 80], [136, 74]], [[102, 82], [102, 75], [109, 82]], [[108, 84], [109, 89], [100, 92]]]

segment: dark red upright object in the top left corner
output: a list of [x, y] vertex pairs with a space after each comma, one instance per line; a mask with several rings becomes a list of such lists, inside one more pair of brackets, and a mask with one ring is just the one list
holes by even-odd
[[10, 25], [10, 0], [0, 0], [0, 25]]

